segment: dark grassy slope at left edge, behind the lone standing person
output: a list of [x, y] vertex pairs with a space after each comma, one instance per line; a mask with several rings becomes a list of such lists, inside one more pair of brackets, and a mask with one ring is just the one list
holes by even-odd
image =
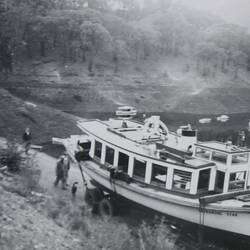
[[21, 141], [25, 127], [30, 127], [34, 143], [51, 141], [52, 136], [65, 137], [79, 133], [72, 115], [38, 105], [25, 104], [0, 88], [0, 136]]

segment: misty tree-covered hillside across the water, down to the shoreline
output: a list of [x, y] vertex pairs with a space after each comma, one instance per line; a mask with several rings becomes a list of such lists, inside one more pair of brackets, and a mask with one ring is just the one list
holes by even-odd
[[244, 29], [174, 2], [141, 10], [125, 1], [123, 11], [104, 3], [0, 5], [1, 86], [74, 114], [124, 104], [141, 112], [249, 110]]

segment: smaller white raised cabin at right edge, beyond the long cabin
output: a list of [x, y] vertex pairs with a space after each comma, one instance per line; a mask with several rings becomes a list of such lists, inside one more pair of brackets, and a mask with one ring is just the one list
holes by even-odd
[[199, 142], [194, 145], [193, 157], [216, 164], [214, 190], [219, 193], [246, 190], [250, 186], [250, 150], [231, 142]]

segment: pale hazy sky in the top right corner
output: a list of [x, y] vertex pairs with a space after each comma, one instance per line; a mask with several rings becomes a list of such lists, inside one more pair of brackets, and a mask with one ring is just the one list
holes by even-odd
[[192, 8], [208, 11], [228, 22], [250, 30], [250, 0], [175, 0]]

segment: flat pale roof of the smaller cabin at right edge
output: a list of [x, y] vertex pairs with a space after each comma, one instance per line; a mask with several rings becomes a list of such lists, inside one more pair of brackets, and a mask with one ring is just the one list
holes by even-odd
[[220, 151], [227, 154], [249, 153], [248, 148], [242, 148], [235, 145], [228, 145], [228, 143], [218, 141], [207, 141], [196, 143], [195, 146], [207, 148], [209, 150]]

